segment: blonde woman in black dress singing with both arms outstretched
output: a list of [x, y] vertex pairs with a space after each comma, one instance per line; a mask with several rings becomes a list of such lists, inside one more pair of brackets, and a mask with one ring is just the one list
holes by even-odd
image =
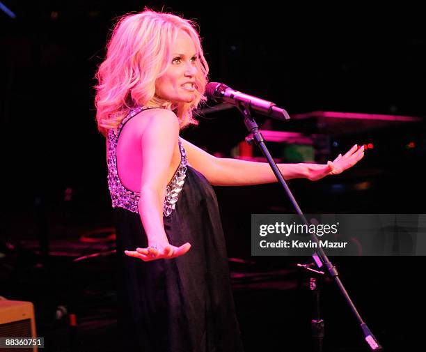
[[[97, 72], [97, 124], [107, 137], [116, 216], [123, 351], [243, 351], [212, 185], [276, 182], [269, 164], [215, 158], [179, 137], [206, 100], [208, 65], [194, 23], [125, 15]], [[279, 164], [318, 180], [363, 158]]]

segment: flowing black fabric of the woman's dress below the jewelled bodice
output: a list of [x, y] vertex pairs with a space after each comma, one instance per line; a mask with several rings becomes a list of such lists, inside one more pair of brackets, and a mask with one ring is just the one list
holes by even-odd
[[169, 242], [191, 243], [181, 257], [127, 257], [124, 250], [147, 246], [145, 231], [138, 213], [120, 206], [114, 212], [123, 351], [243, 351], [219, 209], [207, 179], [187, 165], [173, 211], [164, 215]]

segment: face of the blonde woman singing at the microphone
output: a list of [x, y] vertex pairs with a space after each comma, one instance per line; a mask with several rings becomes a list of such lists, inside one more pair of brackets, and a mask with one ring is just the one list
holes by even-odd
[[155, 81], [155, 93], [173, 103], [192, 102], [196, 98], [198, 54], [188, 33], [178, 33], [171, 52], [172, 60], [166, 73]]

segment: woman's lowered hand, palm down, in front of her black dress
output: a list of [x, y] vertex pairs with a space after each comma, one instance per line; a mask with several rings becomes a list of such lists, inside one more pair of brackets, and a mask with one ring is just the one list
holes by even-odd
[[185, 243], [180, 247], [175, 247], [170, 243], [150, 245], [146, 248], [136, 248], [136, 250], [125, 250], [125, 254], [129, 257], [139, 258], [143, 261], [152, 261], [156, 259], [172, 259], [179, 257], [189, 251], [191, 245]]

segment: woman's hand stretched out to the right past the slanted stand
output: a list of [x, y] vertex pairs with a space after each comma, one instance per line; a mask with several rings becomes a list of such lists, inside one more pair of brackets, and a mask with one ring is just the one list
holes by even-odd
[[353, 167], [363, 156], [364, 146], [358, 148], [355, 144], [345, 155], [339, 154], [332, 162], [329, 161], [327, 164], [308, 164], [308, 179], [317, 181], [328, 175], [341, 174], [349, 167]]

